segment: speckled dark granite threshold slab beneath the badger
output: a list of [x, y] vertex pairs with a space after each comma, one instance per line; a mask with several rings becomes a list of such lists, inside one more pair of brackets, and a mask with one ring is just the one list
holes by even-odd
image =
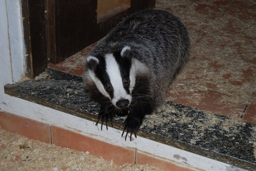
[[[91, 102], [82, 77], [47, 68], [33, 80], [4, 87], [5, 94], [96, 122], [99, 104]], [[113, 128], [123, 131], [125, 117]], [[111, 126], [111, 125], [109, 125]], [[147, 115], [138, 136], [221, 161], [256, 170], [256, 125], [166, 101]]]

